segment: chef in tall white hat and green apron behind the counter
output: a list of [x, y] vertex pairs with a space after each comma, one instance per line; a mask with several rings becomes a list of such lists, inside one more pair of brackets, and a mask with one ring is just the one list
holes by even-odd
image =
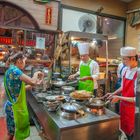
[[89, 57], [89, 43], [79, 43], [78, 50], [80, 54], [79, 71], [69, 76], [69, 79], [73, 79], [80, 75], [80, 81], [78, 85], [79, 90], [86, 90], [97, 94], [97, 79], [99, 77], [99, 65], [96, 61]]

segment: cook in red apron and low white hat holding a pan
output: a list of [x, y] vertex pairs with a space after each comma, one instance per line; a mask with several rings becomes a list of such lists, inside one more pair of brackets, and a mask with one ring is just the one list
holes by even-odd
[[[120, 128], [126, 134], [128, 140], [133, 139], [135, 118], [135, 85], [137, 79], [137, 54], [133, 47], [123, 47], [120, 50], [127, 69], [123, 75], [122, 85], [113, 93], [107, 93], [106, 97], [113, 103], [120, 101]], [[121, 95], [119, 95], [121, 93]]]

